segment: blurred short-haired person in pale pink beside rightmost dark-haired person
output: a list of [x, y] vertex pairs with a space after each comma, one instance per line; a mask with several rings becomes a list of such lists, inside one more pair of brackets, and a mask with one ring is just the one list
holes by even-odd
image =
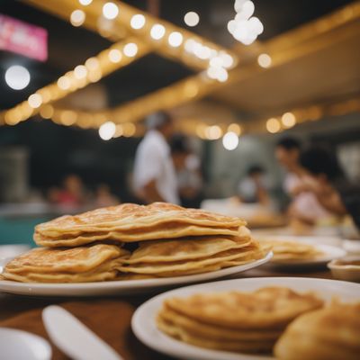
[[288, 207], [290, 218], [314, 225], [318, 220], [328, 219], [331, 214], [320, 204], [314, 193], [299, 192], [303, 184], [311, 182], [307, 172], [300, 164], [301, 148], [298, 139], [290, 137], [280, 139], [276, 144], [275, 157], [286, 171], [284, 192], [291, 198]]

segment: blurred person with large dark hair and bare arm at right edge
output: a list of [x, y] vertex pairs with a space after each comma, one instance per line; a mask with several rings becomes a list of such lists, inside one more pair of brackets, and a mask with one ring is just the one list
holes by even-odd
[[300, 162], [311, 182], [302, 184], [297, 191], [313, 193], [336, 216], [350, 214], [360, 229], [360, 185], [347, 181], [338, 157], [327, 148], [313, 146], [302, 151]]

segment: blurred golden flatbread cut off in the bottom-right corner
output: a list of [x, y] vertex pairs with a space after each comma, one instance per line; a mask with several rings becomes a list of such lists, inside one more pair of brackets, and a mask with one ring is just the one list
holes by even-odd
[[335, 304], [294, 320], [275, 345], [280, 360], [357, 360], [360, 303]]

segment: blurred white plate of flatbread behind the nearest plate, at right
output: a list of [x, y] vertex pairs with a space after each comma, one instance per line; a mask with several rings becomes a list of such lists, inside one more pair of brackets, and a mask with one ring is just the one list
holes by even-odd
[[[289, 241], [294, 243], [309, 244], [313, 247], [316, 247], [322, 253], [319, 257], [312, 259], [273, 259], [271, 262], [269, 262], [269, 264], [267, 264], [268, 267], [304, 268], [313, 266], [326, 266], [331, 260], [335, 260], [339, 257], [345, 257], [347, 255], [347, 252], [341, 247], [317, 243], [315, 240], [311, 240], [305, 237], [268, 237], [266, 239], [270, 239], [272, 241]], [[261, 243], [261, 238], [259, 238], [259, 240]]]

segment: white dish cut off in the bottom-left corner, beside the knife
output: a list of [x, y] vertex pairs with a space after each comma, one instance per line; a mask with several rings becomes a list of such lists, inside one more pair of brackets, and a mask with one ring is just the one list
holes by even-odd
[[44, 338], [26, 331], [0, 328], [0, 358], [49, 360], [51, 347]]

